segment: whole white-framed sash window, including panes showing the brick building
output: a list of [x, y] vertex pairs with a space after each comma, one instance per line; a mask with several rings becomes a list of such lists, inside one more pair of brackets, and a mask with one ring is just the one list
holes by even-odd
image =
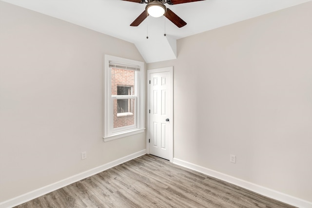
[[104, 141], [144, 132], [144, 64], [105, 55]]

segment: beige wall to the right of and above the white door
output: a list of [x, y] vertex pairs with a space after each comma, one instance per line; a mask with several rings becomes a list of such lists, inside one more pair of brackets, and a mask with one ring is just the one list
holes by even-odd
[[174, 66], [175, 158], [312, 202], [311, 11], [182, 38], [148, 64]]

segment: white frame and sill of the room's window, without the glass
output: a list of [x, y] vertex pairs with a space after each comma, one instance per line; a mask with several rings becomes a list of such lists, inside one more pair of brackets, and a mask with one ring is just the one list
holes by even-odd
[[[112, 96], [112, 72], [109, 66], [110, 62], [122, 63], [125, 65], [138, 66], [139, 70], [136, 72], [136, 84], [134, 96], [136, 96], [135, 102], [135, 125], [119, 127], [114, 129], [114, 114], [113, 114], [113, 102]], [[144, 118], [144, 63], [140, 61], [120, 58], [112, 55], [105, 55], [104, 57], [104, 141], [110, 141], [127, 136], [131, 136], [145, 131]], [[129, 96], [127, 96], [129, 97]]]

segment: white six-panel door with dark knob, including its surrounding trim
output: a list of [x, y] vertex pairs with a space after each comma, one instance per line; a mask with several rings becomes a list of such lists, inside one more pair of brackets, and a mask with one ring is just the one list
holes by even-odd
[[173, 160], [173, 67], [148, 70], [149, 152]]

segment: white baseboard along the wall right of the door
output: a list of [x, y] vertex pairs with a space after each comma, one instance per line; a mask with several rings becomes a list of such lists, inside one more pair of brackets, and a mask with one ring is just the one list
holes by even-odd
[[177, 158], [174, 158], [174, 164], [183, 166], [183, 167], [188, 168], [188, 169], [192, 169], [192, 170], [197, 171], [199, 173], [204, 173], [206, 175], [209, 175], [209, 176], [215, 177], [217, 179], [232, 183], [232, 184], [237, 185], [239, 187], [242, 187], [244, 189], [254, 191], [254, 192], [259, 193], [261, 195], [270, 197], [272, 199], [287, 203], [289, 205], [292, 205], [292, 206], [295, 206], [298, 208], [312, 208], [312, 202], [305, 201], [303, 199], [299, 199], [299, 198], [293, 197], [291, 195], [288, 195], [288, 194], [285, 194], [285, 193], [282, 193], [279, 191], [275, 191], [275, 190], [272, 190], [272, 189], [269, 189], [266, 187], [262, 187], [262, 186], [259, 186], [257, 184], [254, 184], [254, 183], [251, 183], [251, 182], [248, 182], [245, 180], [241, 180], [239, 178], [235, 178], [231, 175], [220, 173], [220, 172], [217, 172], [217, 171], [214, 171], [214, 170], [202, 167], [202, 166], [198, 166], [198, 165], [195, 165], [193, 163], [186, 162], [186, 161], [183, 161], [183, 160], [180, 160]]

